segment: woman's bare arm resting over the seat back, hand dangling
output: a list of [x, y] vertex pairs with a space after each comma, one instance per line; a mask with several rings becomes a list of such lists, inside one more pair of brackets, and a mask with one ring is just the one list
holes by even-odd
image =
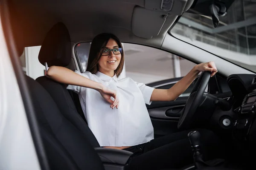
[[[47, 71], [47, 77], [53, 79], [57, 82], [61, 82], [67, 85], [77, 85], [85, 88], [92, 88], [102, 95], [102, 97], [109, 103], [111, 103], [111, 108], [118, 108], [119, 99], [116, 95], [116, 91], [113, 91], [99, 82], [87, 79], [74, 71], [60, 66], [51, 66]], [[112, 101], [111, 96], [115, 99]]]

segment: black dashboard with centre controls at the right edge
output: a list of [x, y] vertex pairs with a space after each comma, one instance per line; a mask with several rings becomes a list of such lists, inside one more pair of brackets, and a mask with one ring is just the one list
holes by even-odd
[[256, 142], [256, 75], [234, 74], [227, 78], [233, 94], [233, 136], [236, 140]]

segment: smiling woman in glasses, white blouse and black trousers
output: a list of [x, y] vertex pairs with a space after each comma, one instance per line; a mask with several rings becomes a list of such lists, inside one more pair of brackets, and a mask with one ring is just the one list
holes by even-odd
[[[67, 84], [68, 89], [79, 94], [88, 126], [100, 146], [137, 153], [131, 161], [132, 169], [179, 167], [185, 165], [184, 162], [191, 163], [189, 131], [154, 139], [145, 103], [175, 100], [200, 71], [211, 71], [211, 76], [216, 74], [214, 62], [196, 65], [172, 88], [165, 90], [148, 87], [128, 77], [120, 79], [124, 60], [119, 39], [113, 34], [99, 34], [91, 43], [86, 72], [52, 66], [47, 76]], [[211, 131], [201, 130], [201, 136], [208, 145], [215, 145]], [[212, 139], [207, 142], [209, 138]]]

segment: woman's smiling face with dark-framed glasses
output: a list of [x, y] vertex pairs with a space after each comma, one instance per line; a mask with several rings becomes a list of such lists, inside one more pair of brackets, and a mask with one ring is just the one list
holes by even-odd
[[121, 61], [121, 54], [116, 54], [113, 53], [113, 51], [110, 51], [108, 55], [102, 55], [102, 54], [107, 54], [106, 49], [113, 49], [113, 48], [119, 48], [117, 45], [116, 41], [113, 39], [109, 39], [106, 47], [102, 49], [101, 51], [101, 57], [99, 59], [99, 71], [102, 72], [103, 74], [107, 74], [108, 76], [113, 76], [114, 71], [118, 67], [120, 61]]

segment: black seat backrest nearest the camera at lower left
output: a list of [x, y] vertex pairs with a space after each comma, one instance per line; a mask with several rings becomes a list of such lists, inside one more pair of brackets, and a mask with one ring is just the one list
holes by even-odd
[[49, 93], [26, 77], [39, 129], [52, 170], [104, 170], [93, 146], [69, 119], [61, 114]]

